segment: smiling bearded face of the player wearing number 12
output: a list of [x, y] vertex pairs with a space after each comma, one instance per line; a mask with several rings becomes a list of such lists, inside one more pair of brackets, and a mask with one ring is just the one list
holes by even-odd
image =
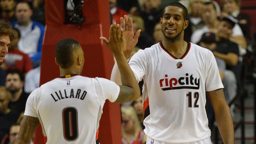
[[188, 26], [188, 21], [184, 20], [182, 8], [168, 6], [164, 10], [163, 18], [160, 18], [161, 29], [164, 39], [175, 41], [184, 36], [184, 29]]

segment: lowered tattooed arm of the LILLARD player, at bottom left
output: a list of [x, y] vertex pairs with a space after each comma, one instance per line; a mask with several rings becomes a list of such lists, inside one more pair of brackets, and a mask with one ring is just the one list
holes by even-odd
[[38, 123], [38, 118], [25, 115], [21, 121], [19, 135], [15, 141], [15, 144], [30, 144], [30, 140]]

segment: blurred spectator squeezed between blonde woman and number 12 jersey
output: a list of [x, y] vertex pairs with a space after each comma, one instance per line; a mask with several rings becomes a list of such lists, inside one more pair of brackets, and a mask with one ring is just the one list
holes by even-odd
[[143, 113], [144, 113], [144, 111], [143, 111], [142, 95], [138, 99], [133, 101], [131, 105], [136, 110], [136, 113], [137, 113], [137, 116], [139, 118], [140, 125], [141, 125], [142, 129], [145, 129], [145, 126], [143, 125], [143, 120], [144, 120]]

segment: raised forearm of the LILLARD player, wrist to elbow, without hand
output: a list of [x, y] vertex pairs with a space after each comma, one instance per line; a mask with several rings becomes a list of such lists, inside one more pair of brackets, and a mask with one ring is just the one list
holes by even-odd
[[[126, 57], [123, 53], [114, 54], [114, 56], [120, 72], [122, 85], [132, 88], [134, 90], [135, 99], [138, 98], [140, 96], [140, 88], [137, 79], [126, 60]], [[118, 72], [116, 72], [116, 74], [118, 75]]]

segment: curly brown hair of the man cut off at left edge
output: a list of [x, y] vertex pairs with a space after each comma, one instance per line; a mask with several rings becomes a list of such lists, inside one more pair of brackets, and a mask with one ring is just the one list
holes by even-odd
[[12, 32], [12, 27], [10, 26], [9, 22], [5, 20], [0, 20], [0, 35], [8, 35], [10, 41], [13, 40], [14, 34]]

